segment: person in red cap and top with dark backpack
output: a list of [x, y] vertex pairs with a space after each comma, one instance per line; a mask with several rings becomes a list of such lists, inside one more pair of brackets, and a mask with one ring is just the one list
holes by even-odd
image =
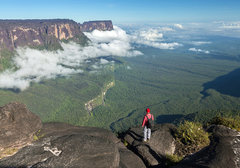
[[146, 115], [143, 117], [143, 122], [142, 122], [142, 127], [144, 127], [143, 129], [143, 141], [146, 142], [147, 140], [150, 140], [151, 138], [151, 121], [154, 121], [154, 117], [153, 115], [150, 113], [150, 109], [147, 108], [146, 109]]

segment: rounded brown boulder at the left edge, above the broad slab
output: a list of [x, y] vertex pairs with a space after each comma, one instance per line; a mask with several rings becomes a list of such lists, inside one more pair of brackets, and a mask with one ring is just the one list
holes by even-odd
[[0, 156], [4, 157], [3, 153], [10, 148], [18, 149], [32, 142], [41, 127], [40, 118], [24, 104], [15, 102], [0, 107]]

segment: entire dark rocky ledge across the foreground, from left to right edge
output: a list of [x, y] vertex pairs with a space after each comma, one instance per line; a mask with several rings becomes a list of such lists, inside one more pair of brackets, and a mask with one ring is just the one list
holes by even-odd
[[[0, 126], [0, 167], [4, 168], [165, 168], [171, 167], [166, 155], [179, 150], [172, 124], [155, 125], [151, 140], [144, 143], [142, 128], [131, 128], [119, 139], [102, 128], [41, 124], [21, 103], [0, 108]], [[211, 125], [207, 131], [210, 145], [172, 168], [240, 167], [239, 132], [221, 125]]]

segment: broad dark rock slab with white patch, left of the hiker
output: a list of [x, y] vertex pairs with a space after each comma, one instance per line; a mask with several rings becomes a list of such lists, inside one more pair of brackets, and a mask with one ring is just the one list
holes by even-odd
[[145, 167], [105, 129], [47, 123], [39, 137], [15, 155], [0, 160], [0, 167]]

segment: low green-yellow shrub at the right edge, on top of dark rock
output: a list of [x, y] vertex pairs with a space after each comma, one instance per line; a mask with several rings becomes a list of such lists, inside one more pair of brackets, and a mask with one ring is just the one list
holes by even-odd
[[232, 117], [214, 117], [208, 122], [208, 125], [223, 125], [226, 127], [229, 127], [231, 129], [235, 129], [237, 131], [240, 131], [240, 117], [235, 116], [234, 118]]

